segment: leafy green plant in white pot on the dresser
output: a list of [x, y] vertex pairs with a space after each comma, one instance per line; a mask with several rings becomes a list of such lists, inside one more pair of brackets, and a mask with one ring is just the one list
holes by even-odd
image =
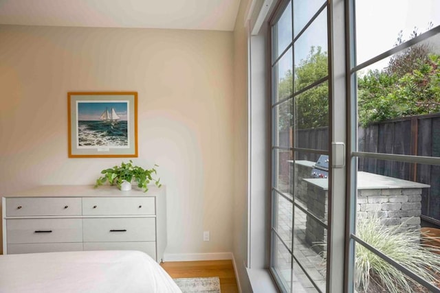
[[[159, 167], [155, 165], [155, 167]], [[157, 174], [156, 169], [144, 169], [142, 167], [133, 165], [133, 161], [129, 163], [122, 162], [120, 166], [116, 165], [110, 169], [104, 169], [101, 171], [103, 174], [96, 180], [96, 187], [103, 185], [106, 181], [109, 181], [110, 185], [117, 185], [122, 191], [128, 191], [131, 189], [131, 181], [134, 179], [137, 183], [137, 187], [148, 191], [148, 184], [152, 181], [157, 187], [161, 187], [158, 179], [153, 178], [153, 174]]]

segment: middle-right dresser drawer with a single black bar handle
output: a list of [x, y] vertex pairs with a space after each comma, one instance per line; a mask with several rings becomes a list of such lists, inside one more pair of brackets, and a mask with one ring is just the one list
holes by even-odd
[[155, 218], [85, 218], [84, 242], [155, 241]]

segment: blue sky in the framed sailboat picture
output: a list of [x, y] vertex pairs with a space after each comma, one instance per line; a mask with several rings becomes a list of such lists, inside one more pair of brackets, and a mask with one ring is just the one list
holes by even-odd
[[116, 114], [120, 120], [126, 121], [127, 118], [127, 102], [78, 102], [78, 121], [98, 121], [105, 109], [111, 111], [115, 109]]

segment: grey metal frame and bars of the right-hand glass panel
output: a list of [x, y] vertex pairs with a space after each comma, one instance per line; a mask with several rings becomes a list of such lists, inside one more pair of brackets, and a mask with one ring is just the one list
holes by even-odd
[[356, 64], [356, 33], [355, 33], [355, 1], [356, 0], [347, 0], [346, 1], [346, 19], [347, 25], [345, 27], [345, 32], [347, 34], [346, 38], [346, 47], [347, 54], [346, 56], [346, 78], [347, 78], [347, 121], [349, 122], [347, 128], [347, 135], [349, 139], [347, 145], [347, 238], [346, 238], [346, 248], [345, 248], [345, 257], [347, 261], [344, 263], [344, 292], [354, 292], [355, 284], [354, 284], [354, 268], [355, 268], [355, 245], [364, 246], [371, 252], [375, 253], [382, 259], [384, 259], [387, 263], [391, 264], [397, 270], [400, 270], [408, 277], [417, 281], [420, 285], [423, 285], [425, 288], [432, 290], [432, 292], [437, 292], [439, 288], [434, 285], [428, 283], [426, 280], [419, 277], [417, 274], [408, 270], [405, 266], [400, 265], [394, 259], [388, 257], [388, 255], [380, 252], [370, 244], [364, 242], [360, 239], [355, 233], [355, 222], [357, 219], [357, 211], [356, 211], [356, 201], [357, 201], [357, 174], [358, 174], [358, 158], [371, 158], [378, 160], [388, 160], [395, 162], [404, 162], [404, 163], [419, 163], [426, 165], [440, 165], [439, 157], [432, 156], [414, 156], [408, 154], [384, 154], [384, 153], [373, 153], [373, 152], [360, 152], [358, 150], [358, 84], [357, 84], [357, 75], [356, 73], [361, 69], [365, 69], [369, 67], [369, 65], [373, 65], [375, 62], [393, 56], [394, 54], [402, 51], [404, 49], [408, 49], [412, 45], [416, 45], [423, 40], [430, 38], [431, 36], [440, 34], [440, 25], [437, 27], [433, 27], [428, 32], [424, 32], [415, 38], [405, 41], [396, 47], [388, 49], [381, 54], [374, 56], [373, 58], [369, 58], [359, 65]]

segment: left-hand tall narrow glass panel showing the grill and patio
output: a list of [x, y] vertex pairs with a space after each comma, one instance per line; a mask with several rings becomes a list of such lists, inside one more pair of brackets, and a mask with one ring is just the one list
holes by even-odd
[[271, 22], [270, 270], [283, 292], [326, 292], [329, 236], [327, 1], [283, 1]]

